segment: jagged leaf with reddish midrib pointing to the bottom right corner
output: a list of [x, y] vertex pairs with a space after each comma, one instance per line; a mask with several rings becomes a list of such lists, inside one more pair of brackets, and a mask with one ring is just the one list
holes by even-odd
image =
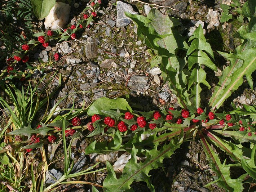
[[229, 166], [226, 165], [226, 160], [224, 161], [223, 164], [221, 164], [220, 158], [218, 157], [218, 155], [214, 152], [213, 148], [208, 144], [206, 139], [203, 138], [202, 136], [201, 136], [201, 142], [204, 148], [204, 152], [206, 153], [207, 159], [210, 162], [210, 166], [212, 170], [215, 171], [215, 173], [219, 177], [214, 182], [207, 184], [207, 186], [213, 183], [217, 183], [218, 186], [230, 192], [243, 191], [242, 181], [244, 180], [247, 174], [243, 174], [237, 179], [231, 179]]

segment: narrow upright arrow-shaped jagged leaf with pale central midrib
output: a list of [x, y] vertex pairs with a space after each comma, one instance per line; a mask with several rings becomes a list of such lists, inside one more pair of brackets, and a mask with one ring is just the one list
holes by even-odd
[[189, 55], [187, 60], [189, 70], [191, 70], [194, 64], [196, 64], [196, 66], [193, 68], [189, 77], [188, 89], [191, 89], [192, 103], [198, 108], [200, 107], [200, 93], [202, 91], [200, 83], [203, 83], [204, 85], [208, 86], [208, 88], [211, 88], [209, 83], [206, 81], [206, 72], [201, 66], [204, 64], [214, 71], [217, 71], [217, 68], [211, 60], [214, 60], [212, 48], [211, 45], [206, 42], [201, 25], [199, 25], [199, 27], [195, 30], [194, 34], [189, 38], [189, 41], [192, 41], [189, 49], [187, 50], [187, 55]]

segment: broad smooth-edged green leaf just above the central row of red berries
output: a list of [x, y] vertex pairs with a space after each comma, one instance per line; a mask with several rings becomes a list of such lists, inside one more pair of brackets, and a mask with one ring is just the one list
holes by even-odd
[[92, 105], [89, 107], [87, 114], [88, 115], [104, 115], [102, 111], [109, 111], [109, 110], [125, 110], [132, 112], [132, 108], [129, 106], [126, 99], [123, 98], [117, 98], [117, 99], [109, 99], [106, 97], [101, 97], [94, 101]]

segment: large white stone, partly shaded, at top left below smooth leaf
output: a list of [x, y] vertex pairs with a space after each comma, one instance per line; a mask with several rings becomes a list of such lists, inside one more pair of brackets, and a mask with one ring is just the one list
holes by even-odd
[[57, 30], [59, 27], [65, 28], [69, 21], [70, 8], [66, 3], [57, 2], [45, 18], [44, 27], [47, 30]]

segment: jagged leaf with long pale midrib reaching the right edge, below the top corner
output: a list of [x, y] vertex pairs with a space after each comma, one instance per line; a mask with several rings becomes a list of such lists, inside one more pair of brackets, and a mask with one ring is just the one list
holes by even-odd
[[210, 106], [218, 109], [222, 103], [239, 88], [243, 83], [243, 76], [247, 77], [248, 84], [253, 89], [252, 72], [256, 69], [256, 48], [251, 48], [238, 53], [219, 52], [223, 57], [230, 60], [230, 66], [222, 72], [220, 81], [210, 100]]

